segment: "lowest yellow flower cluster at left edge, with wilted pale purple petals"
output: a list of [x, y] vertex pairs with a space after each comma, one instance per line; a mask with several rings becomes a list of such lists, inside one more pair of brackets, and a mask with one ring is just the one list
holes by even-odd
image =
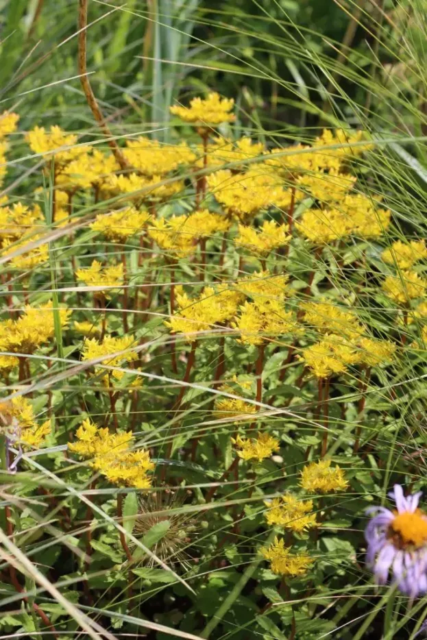
[[38, 449], [51, 433], [51, 422], [38, 424], [29, 400], [23, 396], [13, 397], [9, 402], [0, 401], [0, 428], [14, 443], [23, 449]]

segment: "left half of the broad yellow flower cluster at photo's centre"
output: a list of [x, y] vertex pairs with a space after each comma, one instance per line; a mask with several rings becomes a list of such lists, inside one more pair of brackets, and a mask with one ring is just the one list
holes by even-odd
[[[176, 288], [178, 312], [164, 322], [174, 333], [194, 334], [216, 325], [223, 325], [234, 317], [243, 295], [232, 291], [226, 284], [206, 286], [199, 297], [191, 299], [182, 287]], [[189, 340], [193, 341], [194, 336]]]

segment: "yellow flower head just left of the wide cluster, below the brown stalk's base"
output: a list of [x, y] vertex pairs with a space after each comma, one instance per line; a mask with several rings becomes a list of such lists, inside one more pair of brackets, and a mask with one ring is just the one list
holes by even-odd
[[141, 233], [150, 219], [151, 216], [145, 209], [125, 207], [119, 211], [98, 215], [95, 222], [89, 226], [112, 242], [125, 243], [134, 234]]

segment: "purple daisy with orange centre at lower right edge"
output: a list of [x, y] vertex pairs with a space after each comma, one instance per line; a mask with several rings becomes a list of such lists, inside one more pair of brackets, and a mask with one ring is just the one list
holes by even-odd
[[371, 507], [376, 513], [365, 529], [366, 561], [378, 584], [389, 574], [402, 593], [416, 598], [427, 593], [427, 514], [418, 508], [421, 491], [404, 497], [400, 484], [389, 493], [396, 510]]

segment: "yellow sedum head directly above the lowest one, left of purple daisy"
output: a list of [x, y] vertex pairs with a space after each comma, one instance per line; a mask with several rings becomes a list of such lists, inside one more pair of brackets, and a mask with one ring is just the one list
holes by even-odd
[[267, 524], [291, 529], [302, 533], [306, 529], [317, 526], [316, 514], [313, 511], [313, 500], [302, 502], [295, 495], [285, 494], [265, 502], [269, 508], [265, 514]]

